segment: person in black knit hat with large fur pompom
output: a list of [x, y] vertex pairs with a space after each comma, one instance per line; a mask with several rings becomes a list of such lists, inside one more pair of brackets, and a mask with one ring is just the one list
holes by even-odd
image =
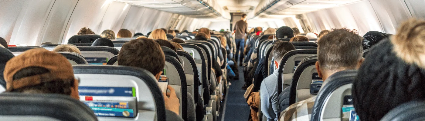
[[425, 21], [411, 19], [391, 40], [375, 45], [353, 83], [354, 108], [360, 121], [380, 121], [393, 108], [425, 100]]

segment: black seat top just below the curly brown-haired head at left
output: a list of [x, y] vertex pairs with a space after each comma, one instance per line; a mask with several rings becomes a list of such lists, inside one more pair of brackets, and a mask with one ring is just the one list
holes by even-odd
[[74, 35], [68, 39], [68, 44], [74, 44], [75, 46], [91, 46], [98, 38], [102, 38], [102, 36], [96, 34]]

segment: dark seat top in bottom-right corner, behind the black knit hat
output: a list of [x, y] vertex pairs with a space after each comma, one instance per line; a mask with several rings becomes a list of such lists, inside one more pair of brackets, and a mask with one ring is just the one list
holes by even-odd
[[423, 101], [406, 102], [390, 110], [380, 121], [424, 121], [424, 107]]

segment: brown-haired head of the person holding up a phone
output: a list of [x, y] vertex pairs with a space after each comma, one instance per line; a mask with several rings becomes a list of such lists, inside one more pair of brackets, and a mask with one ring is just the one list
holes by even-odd
[[165, 56], [157, 42], [140, 38], [122, 45], [118, 64], [146, 69], [159, 79], [165, 66]]

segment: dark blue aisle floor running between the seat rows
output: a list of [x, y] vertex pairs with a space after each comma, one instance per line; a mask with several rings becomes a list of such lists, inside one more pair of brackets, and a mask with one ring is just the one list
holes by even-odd
[[[248, 121], [249, 106], [244, 99], [245, 90], [242, 89], [244, 82], [243, 67], [239, 67], [239, 80], [231, 80], [229, 92], [224, 108], [224, 121]], [[218, 119], [221, 120], [221, 119]]]

